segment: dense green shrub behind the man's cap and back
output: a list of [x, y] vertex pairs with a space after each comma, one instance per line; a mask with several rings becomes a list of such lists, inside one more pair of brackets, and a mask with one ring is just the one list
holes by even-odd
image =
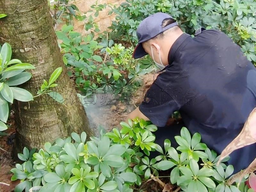
[[140, 21], [156, 12], [165, 12], [177, 19], [183, 31], [191, 35], [199, 27], [222, 30], [255, 64], [255, 7], [254, 0], [126, 0], [119, 7], [113, 7], [116, 20], [111, 29], [116, 32], [116, 37], [136, 43]]

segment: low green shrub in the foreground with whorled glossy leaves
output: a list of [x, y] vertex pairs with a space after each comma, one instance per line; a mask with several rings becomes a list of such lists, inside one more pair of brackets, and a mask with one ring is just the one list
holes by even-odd
[[[227, 167], [225, 160], [216, 166], [219, 157], [200, 143], [198, 133], [191, 138], [183, 127], [181, 136], [175, 137], [180, 146], [175, 149], [166, 139], [162, 149], [154, 143], [157, 127], [149, 121], [136, 118], [120, 124], [120, 131], [101, 130], [99, 138], [87, 140], [85, 132], [72, 133], [72, 139], [47, 142], [37, 153], [24, 148], [18, 157], [25, 162], [11, 170], [12, 180], [21, 180], [15, 192], [27, 192], [32, 186], [43, 186], [42, 192], [132, 192], [144, 180], [159, 177], [159, 170], [168, 169], [172, 169], [171, 183], [184, 192], [247, 192], [244, 185], [239, 190], [236, 184], [226, 184], [233, 166]], [[155, 150], [161, 155], [149, 160], [150, 151]]]

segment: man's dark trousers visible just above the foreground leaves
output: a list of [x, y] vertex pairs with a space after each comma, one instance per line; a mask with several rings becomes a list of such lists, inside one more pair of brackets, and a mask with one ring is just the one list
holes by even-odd
[[[164, 127], [157, 127], [157, 131], [153, 132], [153, 134], [156, 136], [155, 143], [160, 145], [164, 150], [164, 140], [169, 139], [171, 141], [171, 147], [176, 149], [179, 145], [174, 137], [177, 135], [180, 136], [180, 130], [182, 127], [185, 127], [185, 124], [182, 121], [172, 125], [166, 125]], [[158, 151], [151, 151], [149, 157], [151, 159], [158, 155], [160, 155]]]

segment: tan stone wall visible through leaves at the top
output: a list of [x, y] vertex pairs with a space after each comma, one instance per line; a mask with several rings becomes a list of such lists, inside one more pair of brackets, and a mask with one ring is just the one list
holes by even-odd
[[[92, 12], [88, 12], [92, 10], [91, 5], [93, 4], [111, 4], [111, 5], [120, 5], [121, 3], [125, 2], [125, 0], [76, 0], [75, 4], [78, 7], [79, 11], [87, 12], [86, 15], [89, 16]], [[99, 12], [99, 16], [94, 18], [94, 21], [98, 24], [100, 31], [106, 31], [109, 26], [111, 26], [111, 20], [115, 19], [115, 15], [108, 15], [110, 8], [107, 8], [103, 11]], [[92, 14], [94, 15], [94, 13]], [[88, 34], [87, 31], [84, 30], [84, 22], [83, 21], [75, 21], [74, 22], [74, 29], [82, 35]], [[95, 33], [96, 35], [96, 33]]]

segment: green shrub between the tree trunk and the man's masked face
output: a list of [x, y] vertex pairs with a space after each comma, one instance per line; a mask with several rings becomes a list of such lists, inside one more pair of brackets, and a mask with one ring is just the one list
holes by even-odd
[[[75, 75], [76, 87], [85, 96], [109, 90], [115, 90], [117, 94], [124, 87], [138, 87], [141, 84], [139, 75], [152, 71], [149, 68], [152, 63], [148, 60], [132, 59], [132, 47], [125, 48], [107, 39], [98, 43], [92, 34], [81, 36], [70, 25], [63, 25], [56, 34], [62, 41], [63, 61], [70, 68], [68, 74]], [[99, 49], [104, 59], [95, 53]]]

